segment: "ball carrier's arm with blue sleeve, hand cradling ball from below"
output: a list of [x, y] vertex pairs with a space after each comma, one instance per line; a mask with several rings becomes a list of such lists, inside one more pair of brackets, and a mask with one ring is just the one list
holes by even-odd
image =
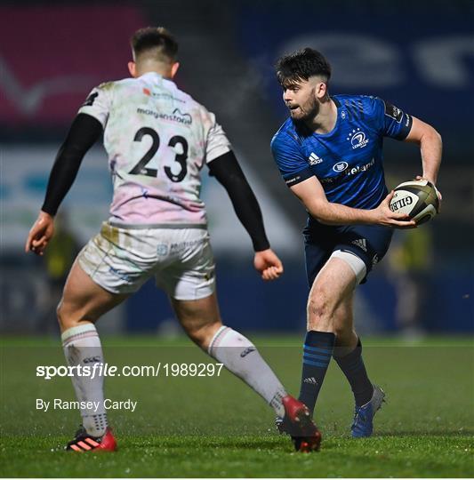
[[373, 210], [351, 208], [329, 202], [320, 181], [313, 174], [296, 144], [285, 133], [277, 133], [271, 150], [286, 185], [297, 196], [311, 217], [325, 225], [385, 225], [394, 228], [413, 228], [415, 223], [407, 215], [390, 211], [393, 192]]

